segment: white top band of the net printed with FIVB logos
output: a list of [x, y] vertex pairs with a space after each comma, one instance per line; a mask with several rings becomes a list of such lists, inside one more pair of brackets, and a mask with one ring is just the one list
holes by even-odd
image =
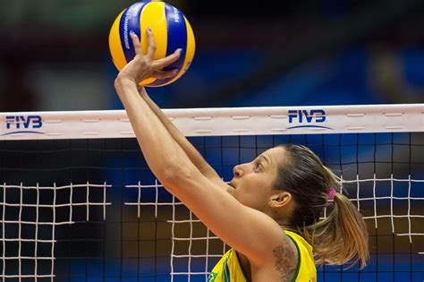
[[[165, 109], [186, 136], [421, 132], [424, 104]], [[123, 110], [0, 113], [0, 140], [134, 137]]]

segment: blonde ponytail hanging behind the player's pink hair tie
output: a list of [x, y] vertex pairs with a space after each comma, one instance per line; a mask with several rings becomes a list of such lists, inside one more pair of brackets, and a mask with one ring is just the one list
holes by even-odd
[[302, 233], [313, 245], [318, 264], [349, 262], [350, 268], [360, 261], [360, 269], [367, 265], [367, 226], [358, 209], [341, 193], [335, 193], [333, 210], [328, 217], [305, 226]]

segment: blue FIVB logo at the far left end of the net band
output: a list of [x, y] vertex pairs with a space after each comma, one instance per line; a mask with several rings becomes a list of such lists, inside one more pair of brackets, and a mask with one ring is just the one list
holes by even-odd
[[3, 135], [11, 135], [16, 133], [36, 133], [44, 134], [43, 132], [35, 131], [43, 126], [41, 115], [6, 115], [6, 130], [15, 130], [6, 132]]

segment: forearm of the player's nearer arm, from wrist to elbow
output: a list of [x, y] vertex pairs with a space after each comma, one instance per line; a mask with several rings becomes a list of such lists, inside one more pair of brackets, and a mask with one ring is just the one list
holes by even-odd
[[174, 141], [157, 115], [140, 97], [136, 84], [117, 79], [115, 89], [131, 121], [148, 167], [161, 183], [178, 167], [193, 167], [191, 160]]

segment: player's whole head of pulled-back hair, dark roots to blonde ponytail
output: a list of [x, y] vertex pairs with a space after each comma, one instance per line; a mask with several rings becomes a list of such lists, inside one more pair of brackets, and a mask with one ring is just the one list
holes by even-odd
[[[367, 226], [358, 209], [341, 192], [340, 179], [309, 148], [284, 144], [284, 161], [278, 168], [275, 185], [291, 192], [295, 209], [287, 229], [298, 232], [314, 249], [316, 263], [360, 268], [369, 260]], [[329, 192], [335, 189], [333, 201]], [[319, 220], [324, 209], [326, 218]]]

